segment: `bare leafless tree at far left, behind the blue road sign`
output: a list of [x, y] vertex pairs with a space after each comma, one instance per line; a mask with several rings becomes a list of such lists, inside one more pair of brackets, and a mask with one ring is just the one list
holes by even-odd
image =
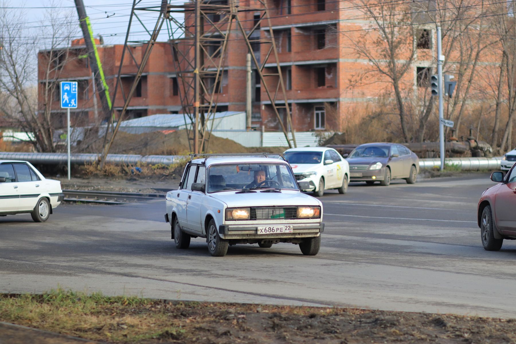
[[[63, 66], [70, 59], [69, 46], [75, 25], [63, 22], [63, 12], [48, 10], [41, 32], [27, 28], [20, 10], [13, 12], [2, 2], [0, 9], [0, 113], [27, 133], [35, 149], [55, 152], [52, 102], [58, 100], [58, 83]], [[48, 7], [56, 7], [51, 2]], [[70, 13], [70, 18], [73, 13]], [[29, 39], [28, 39], [29, 38]], [[45, 48], [40, 59], [38, 49]], [[41, 83], [38, 83], [38, 63]], [[37, 86], [36, 86], [37, 85]], [[39, 89], [41, 108], [38, 108]]]

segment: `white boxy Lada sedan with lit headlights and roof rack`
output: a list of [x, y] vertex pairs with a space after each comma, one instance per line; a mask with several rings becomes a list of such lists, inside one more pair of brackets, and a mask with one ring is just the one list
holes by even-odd
[[300, 191], [286, 161], [266, 156], [190, 160], [179, 189], [167, 193], [166, 209], [176, 248], [206, 238], [212, 256], [224, 256], [228, 245], [279, 242], [316, 255], [324, 231], [322, 203]]

